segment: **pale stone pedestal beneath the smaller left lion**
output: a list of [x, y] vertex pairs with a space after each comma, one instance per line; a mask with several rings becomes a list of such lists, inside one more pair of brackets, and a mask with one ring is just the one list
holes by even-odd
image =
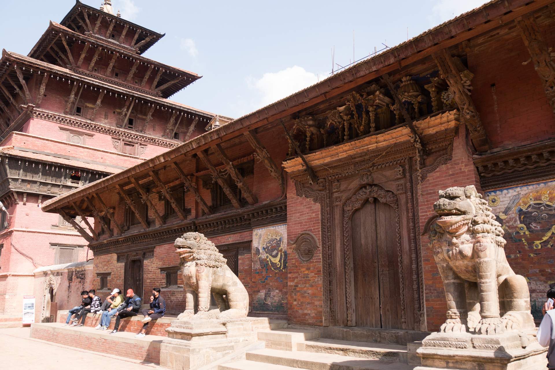
[[258, 341], [259, 330], [270, 330], [266, 317], [230, 320], [172, 320], [168, 339], [160, 344], [160, 366], [194, 370]]

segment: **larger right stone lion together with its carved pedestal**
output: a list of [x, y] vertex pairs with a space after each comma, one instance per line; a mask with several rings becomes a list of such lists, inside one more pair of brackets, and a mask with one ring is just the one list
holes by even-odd
[[433, 204], [430, 247], [447, 320], [422, 341], [415, 370], [524, 370], [547, 366], [526, 279], [507, 262], [503, 229], [476, 188], [450, 187]]

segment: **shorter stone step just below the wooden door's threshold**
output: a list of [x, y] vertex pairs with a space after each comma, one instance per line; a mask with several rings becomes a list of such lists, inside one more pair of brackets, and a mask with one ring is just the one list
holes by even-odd
[[319, 338], [297, 342], [297, 351], [331, 353], [340, 356], [407, 362], [407, 347], [398, 344], [340, 341]]

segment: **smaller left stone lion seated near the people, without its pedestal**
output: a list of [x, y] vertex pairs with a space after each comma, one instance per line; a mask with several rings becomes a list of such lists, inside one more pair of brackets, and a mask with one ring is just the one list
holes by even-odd
[[[181, 262], [185, 311], [178, 320], [210, 318], [245, 318], [249, 313], [249, 295], [239, 278], [226, 265], [226, 259], [213, 242], [198, 232], [188, 232], [174, 243]], [[218, 308], [209, 311], [210, 293]], [[195, 295], [198, 312], [195, 314]]]

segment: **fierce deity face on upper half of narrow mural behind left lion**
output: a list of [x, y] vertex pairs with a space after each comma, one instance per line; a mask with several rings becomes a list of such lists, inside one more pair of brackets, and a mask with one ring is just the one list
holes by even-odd
[[287, 225], [253, 231], [253, 269], [285, 271], [287, 268]]

